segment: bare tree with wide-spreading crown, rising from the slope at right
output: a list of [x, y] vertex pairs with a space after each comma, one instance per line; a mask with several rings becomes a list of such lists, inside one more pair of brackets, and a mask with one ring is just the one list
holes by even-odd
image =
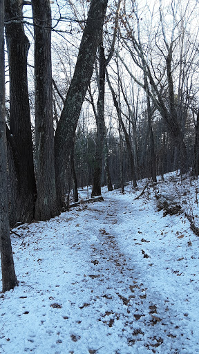
[[[182, 36], [185, 32], [188, 32], [187, 24], [189, 24], [190, 14], [193, 12], [193, 9], [189, 11], [188, 5], [184, 4], [184, 8], [182, 9], [180, 8], [181, 5], [182, 1], [172, 1], [172, 6], [169, 7], [171, 13], [169, 13], [170, 23], [168, 24], [165, 20], [167, 14], [164, 14], [166, 10], [163, 11], [162, 1], [160, 1], [159, 17], [158, 12], [155, 12], [155, 19], [151, 17], [151, 28], [147, 28], [146, 22], [143, 21], [143, 9], [142, 15], [138, 13], [138, 2], [133, 3], [132, 1], [135, 14], [133, 21], [127, 15], [124, 7], [122, 24], [123, 30], [125, 28], [125, 35], [122, 32], [123, 30], [121, 30], [122, 40], [133, 59], [135, 67], [137, 66], [136, 70], [142, 71], [142, 81], [138, 80], [138, 77], [135, 77], [136, 74], [131, 71], [124, 59], [122, 59], [122, 55], [120, 53], [118, 55], [126, 71], [146, 91], [149, 111], [149, 103], [151, 101], [164, 119], [176, 151], [176, 159], [174, 159], [174, 163], [175, 160], [176, 163], [173, 168], [180, 167], [183, 173], [183, 171], [187, 171], [187, 148], [184, 139], [182, 112], [185, 117], [186, 109], [184, 102], [189, 97], [188, 92], [182, 97], [182, 87], [186, 81], [183, 75], [187, 75], [190, 72], [194, 53], [191, 54], [190, 48], [193, 48], [191, 41], [189, 43], [190, 48], [189, 46], [181, 45], [182, 50], [180, 51], [180, 41], [182, 44]], [[185, 21], [186, 18], [187, 20]], [[142, 22], [144, 23], [142, 24]], [[145, 32], [144, 24], [147, 28]], [[189, 48], [189, 59], [186, 54], [187, 47]], [[180, 60], [178, 59], [179, 57]], [[180, 79], [179, 76], [177, 78], [177, 72], [178, 75], [180, 73]], [[187, 76], [187, 80], [189, 80], [187, 81], [188, 88], [190, 77], [188, 79]], [[188, 104], [188, 101], [186, 104]]]

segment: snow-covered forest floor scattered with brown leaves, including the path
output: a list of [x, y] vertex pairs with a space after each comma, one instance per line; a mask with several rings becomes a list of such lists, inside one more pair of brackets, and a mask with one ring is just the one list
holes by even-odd
[[[15, 229], [0, 353], [199, 353], [199, 237], [184, 216], [199, 225], [198, 183], [169, 174], [135, 200], [145, 184]], [[163, 216], [155, 194], [181, 214]]]

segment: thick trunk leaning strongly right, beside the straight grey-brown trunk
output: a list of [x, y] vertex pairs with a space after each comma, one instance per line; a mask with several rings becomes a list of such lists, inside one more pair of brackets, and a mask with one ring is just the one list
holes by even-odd
[[70, 156], [82, 103], [93, 75], [96, 50], [102, 34], [108, 0], [92, 0], [88, 19], [79, 47], [75, 73], [70, 83], [64, 109], [55, 133], [55, 176], [59, 207], [62, 207], [64, 191], [64, 171]]

